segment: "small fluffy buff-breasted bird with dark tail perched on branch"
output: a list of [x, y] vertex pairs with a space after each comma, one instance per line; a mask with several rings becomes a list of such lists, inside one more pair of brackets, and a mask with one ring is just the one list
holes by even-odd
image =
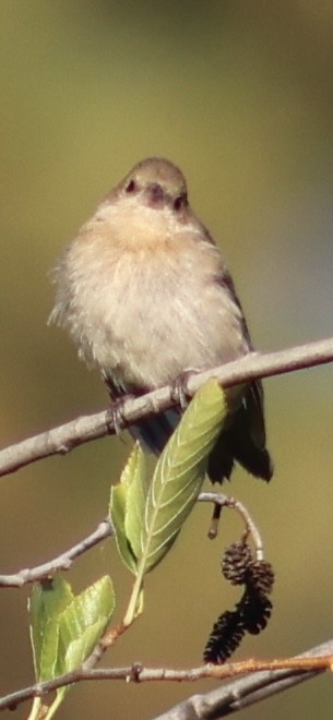
[[[233, 279], [169, 160], [142, 160], [98, 205], [55, 267], [50, 322], [98, 368], [112, 399], [174, 384], [251, 351]], [[158, 454], [179, 421], [175, 408], [130, 428]], [[270, 480], [260, 381], [239, 387], [210, 460], [213, 482], [237, 460]]]

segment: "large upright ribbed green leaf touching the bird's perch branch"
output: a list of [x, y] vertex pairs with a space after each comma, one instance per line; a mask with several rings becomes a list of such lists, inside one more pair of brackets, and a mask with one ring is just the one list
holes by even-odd
[[158, 459], [145, 507], [142, 576], [167, 553], [198, 499], [210, 452], [227, 416], [224, 397], [217, 381], [202, 386]]

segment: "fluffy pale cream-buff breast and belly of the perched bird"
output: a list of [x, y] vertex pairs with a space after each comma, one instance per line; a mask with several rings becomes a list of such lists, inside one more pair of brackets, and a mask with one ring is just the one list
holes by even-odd
[[80, 356], [123, 386], [160, 386], [248, 350], [218, 250], [195, 233], [133, 250], [95, 232], [62, 262], [59, 322]]

